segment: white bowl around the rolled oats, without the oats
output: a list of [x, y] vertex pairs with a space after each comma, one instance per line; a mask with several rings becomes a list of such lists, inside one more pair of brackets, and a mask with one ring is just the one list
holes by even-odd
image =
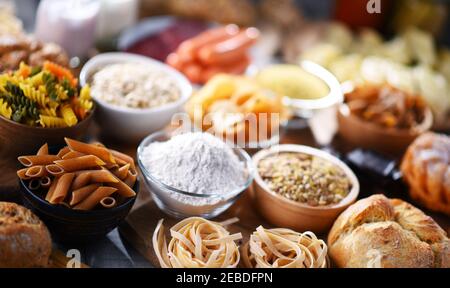
[[157, 60], [122, 52], [103, 53], [91, 58], [81, 70], [80, 84], [89, 84], [92, 76], [103, 67], [117, 63], [143, 63], [157, 67], [172, 76], [181, 91], [180, 99], [154, 108], [129, 108], [113, 105], [94, 97], [98, 104], [97, 122], [102, 131], [126, 142], [140, 141], [145, 136], [166, 127], [172, 116], [182, 111], [192, 94], [190, 82], [177, 70]]

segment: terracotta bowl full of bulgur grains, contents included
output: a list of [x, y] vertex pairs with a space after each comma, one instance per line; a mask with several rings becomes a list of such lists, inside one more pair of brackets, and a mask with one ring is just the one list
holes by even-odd
[[325, 232], [359, 194], [353, 171], [319, 149], [278, 145], [256, 153], [253, 162], [256, 206], [279, 227]]

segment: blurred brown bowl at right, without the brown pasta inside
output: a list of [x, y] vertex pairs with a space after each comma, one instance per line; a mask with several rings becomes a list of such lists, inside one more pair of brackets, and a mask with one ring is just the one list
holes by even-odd
[[338, 109], [339, 135], [354, 147], [370, 149], [388, 156], [400, 157], [420, 134], [431, 129], [433, 114], [425, 110], [423, 122], [414, 130], [385, 128], [352, 114], [346, 104]]

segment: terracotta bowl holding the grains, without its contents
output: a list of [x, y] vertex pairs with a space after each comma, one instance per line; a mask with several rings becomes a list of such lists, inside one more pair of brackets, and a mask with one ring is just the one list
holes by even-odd
[[258, 162], [270, 154], [279, 152], [299, 152], [320, 157], [340, 167], [352, 182], [350, 193], [336, 205], [313, 207], [307, 204], [289, 200], [272, 190], [255, 172], [253, 192], [256, 206], [260, 214], [271, 224], [290, 228], [298, 232], [312, 231], [325, 233], [333, 225], [339, 214], [355, 202], [359, 194], [359, 181], [353, 171], [341, 160], [319, 149], [302, 145], [278, 145], [270, 149], [261, 150], [253, 156], [253, 163]]

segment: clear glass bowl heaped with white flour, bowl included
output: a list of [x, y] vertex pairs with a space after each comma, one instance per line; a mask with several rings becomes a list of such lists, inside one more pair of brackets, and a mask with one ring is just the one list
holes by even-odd
[[250, 156], [203, 132], [156, 132], [137, 158], [157, 206], [177, 218], [213, 218], [227, 210], [253, 182]]

